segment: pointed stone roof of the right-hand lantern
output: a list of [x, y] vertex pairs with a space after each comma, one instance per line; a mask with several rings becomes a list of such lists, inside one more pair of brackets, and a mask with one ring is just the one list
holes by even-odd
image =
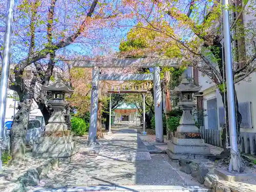
[[182, 92], [189, 92], [189, 93], [197, 93], [202, 88], [201, 86], [197, 86], [194, 83], [189, 82], [187, 79], [187, 74], [184, 72], [182, 74], [182, 80], [179, 86], [175, 87], [172, 91], [173, 94], [182, 93]]

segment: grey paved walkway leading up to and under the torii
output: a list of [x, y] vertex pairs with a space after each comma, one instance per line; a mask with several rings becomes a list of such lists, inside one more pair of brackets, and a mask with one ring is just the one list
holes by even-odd
[[[144, 185], [156, 189], [162, 186], [165, 190], [169, 187], [171, 191], [198, 189], [185, 189], [187, 182], [170, 165], [167, 155], [150, 155], [134, 129], [115, 131], [111, 140], [100, 143], [98, 155], [85, 153], [86, 146], [81, 146], [80, 153], [71, 162], [62, 163], [40, 181], [39, 187], [30, 191], [104, 191], [118, 187], [131, 190], [134, 185], [137, 189], [133, 191], [138, 191], [140, 186], [144, 190]], [[64, 186], [65, 190], [59, 188]]]

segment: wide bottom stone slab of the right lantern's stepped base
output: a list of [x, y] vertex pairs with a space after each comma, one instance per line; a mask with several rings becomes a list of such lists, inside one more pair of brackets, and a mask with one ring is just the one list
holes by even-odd
[[174, 154], [210, 155], [209, 146], [176, 145], [174, 143], [168, 143], [168, 150]]

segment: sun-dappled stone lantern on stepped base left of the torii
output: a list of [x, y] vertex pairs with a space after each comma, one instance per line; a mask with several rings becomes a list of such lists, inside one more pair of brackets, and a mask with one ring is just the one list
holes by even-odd
[[34, 157], [70, 157], [78, 152], [75, 142], [68, 130], [65, 118], [62, 114], [67, 102], [65, 93], [73, 93], [65, 84], [57, 79], [49, 86], [42, 86], [42, 90], [52, 92], [52, 98], [48, 102], [52, 105], [53, 113], [48, 120], [46, 129], [33, 144]]

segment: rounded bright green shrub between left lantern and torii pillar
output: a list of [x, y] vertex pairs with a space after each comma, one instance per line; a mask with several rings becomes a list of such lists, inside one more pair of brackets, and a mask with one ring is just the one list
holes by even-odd
[[71, 131], [75, 136], [83, 136], [89, 129], [89, 123], [82, 118], [73, 117], [71, 119]]

